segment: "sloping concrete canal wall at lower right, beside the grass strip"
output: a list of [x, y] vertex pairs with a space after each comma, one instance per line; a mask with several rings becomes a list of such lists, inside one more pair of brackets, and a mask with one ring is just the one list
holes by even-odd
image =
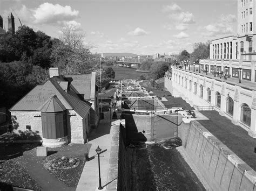
[[198, 122], [179, 128], [178, 150], [209, 190], [256, 190], [256, 172]]

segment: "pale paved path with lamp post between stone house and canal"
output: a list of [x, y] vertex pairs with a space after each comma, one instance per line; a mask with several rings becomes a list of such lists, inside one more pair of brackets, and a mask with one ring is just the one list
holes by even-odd
[[[85, 162], [83, 172], [80, 176], [76, 190], [97, 190], [99, 187], [99, 171], [98, 171], [98, 155], [96, 148], [99, 146], [102, 151], [100, 154], [100, 176], [102, 180], [102, 190], [106, 190], [107, 175], [109, 172], [110, 150], [112, 143], [113, 130], [110, 127], [110, 114], [104, 113], [104, 119], [102, 119], [98, 125], [98, 128], [90, 133], [89, 144], [91, 144], [89, 151], [89, 161]], [[112, 116], [112, 112], [111, 112]], [[112, 119], [111, 121], [116, 121]], [[113, 124], [113, 123], [112, 123]]]

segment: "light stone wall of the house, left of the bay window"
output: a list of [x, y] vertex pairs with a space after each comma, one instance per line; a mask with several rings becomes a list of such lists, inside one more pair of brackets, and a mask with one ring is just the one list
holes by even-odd
[[26, 126], [30, 126], [30, 130], [39, 136], [42, 133], [42, 118], [40, 111], [28, 112], [11, 112], [12, 124], [14, 125], [14, 132], [18, 133], [19, 130], [26, 131]]

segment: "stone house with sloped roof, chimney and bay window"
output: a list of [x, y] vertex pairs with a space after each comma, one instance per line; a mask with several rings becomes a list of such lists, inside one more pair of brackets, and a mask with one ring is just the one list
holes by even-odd
[[59, 75], [58, 68], [49, 73], [49, 80], [10, 108], [14, 131], [34, 132], [49, 147], [85, 143], [99, 122], [96, 73]]

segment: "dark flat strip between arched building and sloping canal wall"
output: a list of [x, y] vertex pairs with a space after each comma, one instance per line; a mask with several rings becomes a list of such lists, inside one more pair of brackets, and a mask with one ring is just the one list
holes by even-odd
[[217, 111], [200, 112], [208, 120], [198, 122], [256, 171], [256, 139], [240, 126], [231, 123], [230, 119], [220, 116]]

